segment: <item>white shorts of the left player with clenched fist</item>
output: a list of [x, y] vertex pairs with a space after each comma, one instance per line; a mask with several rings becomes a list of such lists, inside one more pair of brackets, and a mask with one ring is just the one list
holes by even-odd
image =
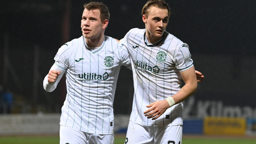
[[114, 134], [90, 134], [60, 125], [60, 144], [114, 144]]

